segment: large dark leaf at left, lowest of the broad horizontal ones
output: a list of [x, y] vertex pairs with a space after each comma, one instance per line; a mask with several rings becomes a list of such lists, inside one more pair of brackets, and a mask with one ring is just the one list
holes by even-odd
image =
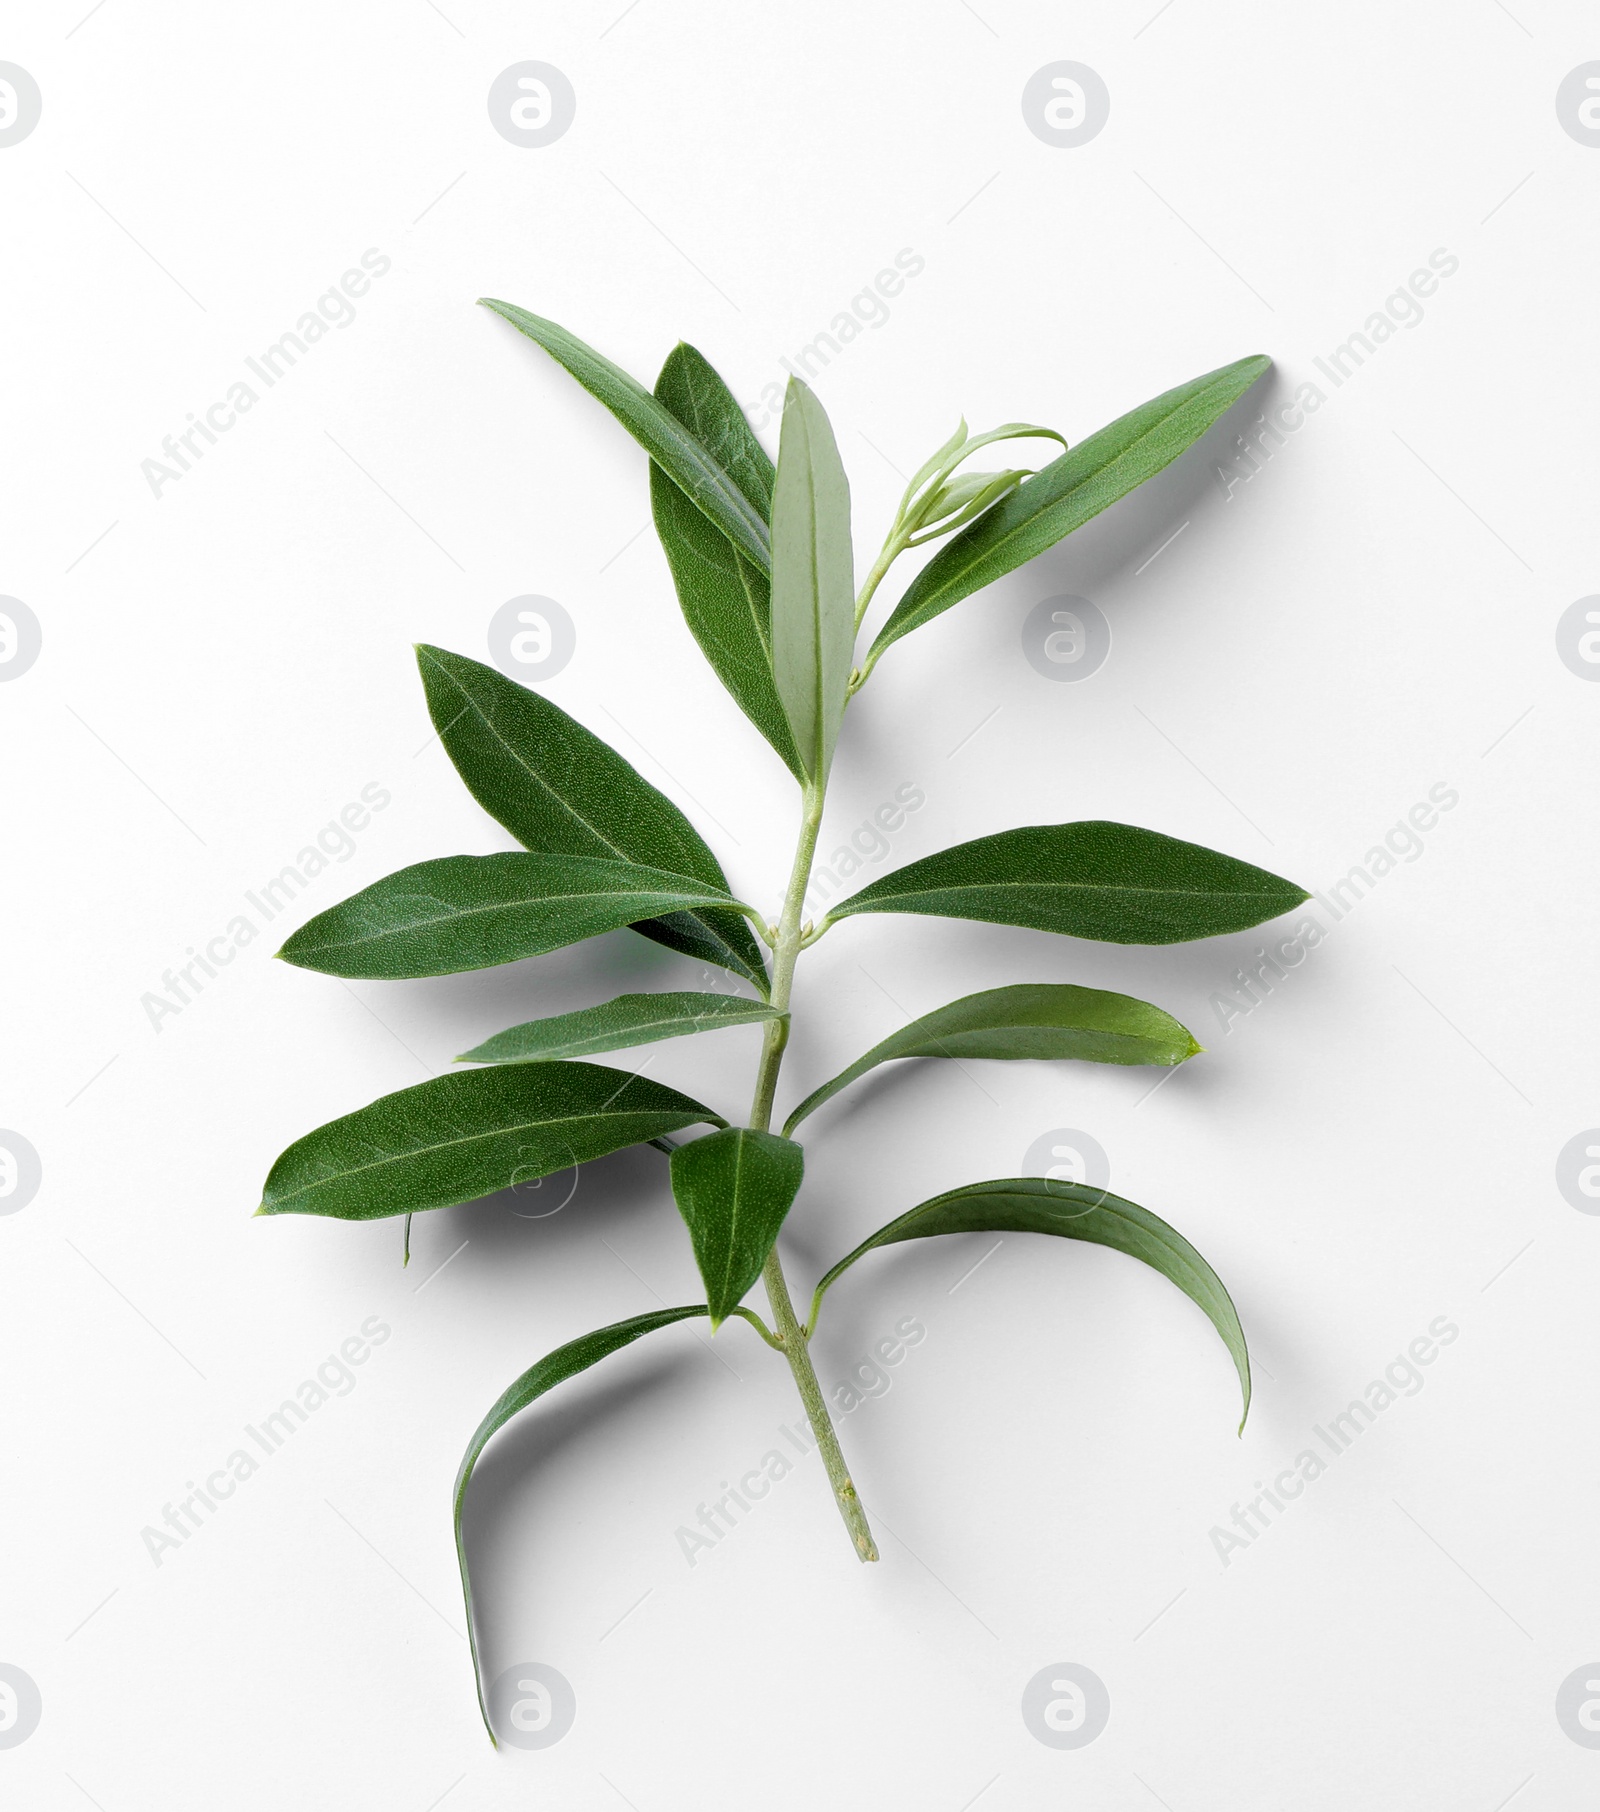
[[375, 1221], [477, 1201], [721, 1114], [603, 1064], [458, 1069], [384, 1094], [294, 1142], [259, 1214]]

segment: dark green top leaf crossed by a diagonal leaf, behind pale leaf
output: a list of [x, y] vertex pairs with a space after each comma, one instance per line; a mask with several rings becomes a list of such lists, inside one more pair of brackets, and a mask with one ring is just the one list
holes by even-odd
[[[656, 397], [761, 511], [772, 509], [772, 460], [728, 386], [692, 346], [678, 346], [656, 379]], [[756, 565], [678, 486], [651, 466], [651, 509], [672, 569], [683, 618], [734, 703], [805, 779], [772, 680], [772, 587]]]

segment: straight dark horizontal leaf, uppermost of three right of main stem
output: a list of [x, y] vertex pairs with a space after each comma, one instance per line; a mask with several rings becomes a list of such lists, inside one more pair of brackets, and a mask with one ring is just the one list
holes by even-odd
[[1024, 824], [908, 863], [841, 901], [857, 911], [982, 919], [1104, 944], [1243, 931], [1310, 899], [1265, 868], [1136, 824]]

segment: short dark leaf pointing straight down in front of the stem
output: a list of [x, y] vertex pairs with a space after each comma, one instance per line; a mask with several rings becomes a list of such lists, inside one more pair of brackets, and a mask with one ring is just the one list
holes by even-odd
[[672, 1194], [705, 1281], [712, 1328], [761, 1276], [803, 1174], [799, 1145], [752, 1127], [710, 1132], [672, 1152]]

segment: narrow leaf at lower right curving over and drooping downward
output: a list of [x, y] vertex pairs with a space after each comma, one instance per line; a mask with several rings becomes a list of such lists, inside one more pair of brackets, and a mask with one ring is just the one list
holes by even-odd
[[1245, 1426], [1245, 1417], [1250, 1413], [1250, 1354], [1221, 1277], [1176, 1229], [1149, 1209], [1085, 1183], [1064, 1183], [1049, 1176], [1007, 1176], [991, 1183], [964, 1183], [960, 1189], [933, 1196], [888, 1227], [879, 1227], [853, 1252], [839, 1259], [817, 1285], [810, 1325], [815, 1326], [823, 1294], [859, 1258], [879, 1247], [897, 1245], [901, 1239], [928, 1239], [935, 1234], [1056, 1234], [1062, 1239], [1084, 1239], [1142, 1259], [1198, 1303], [1221, 1335], [1245, 1393], [1239, 1428]]

